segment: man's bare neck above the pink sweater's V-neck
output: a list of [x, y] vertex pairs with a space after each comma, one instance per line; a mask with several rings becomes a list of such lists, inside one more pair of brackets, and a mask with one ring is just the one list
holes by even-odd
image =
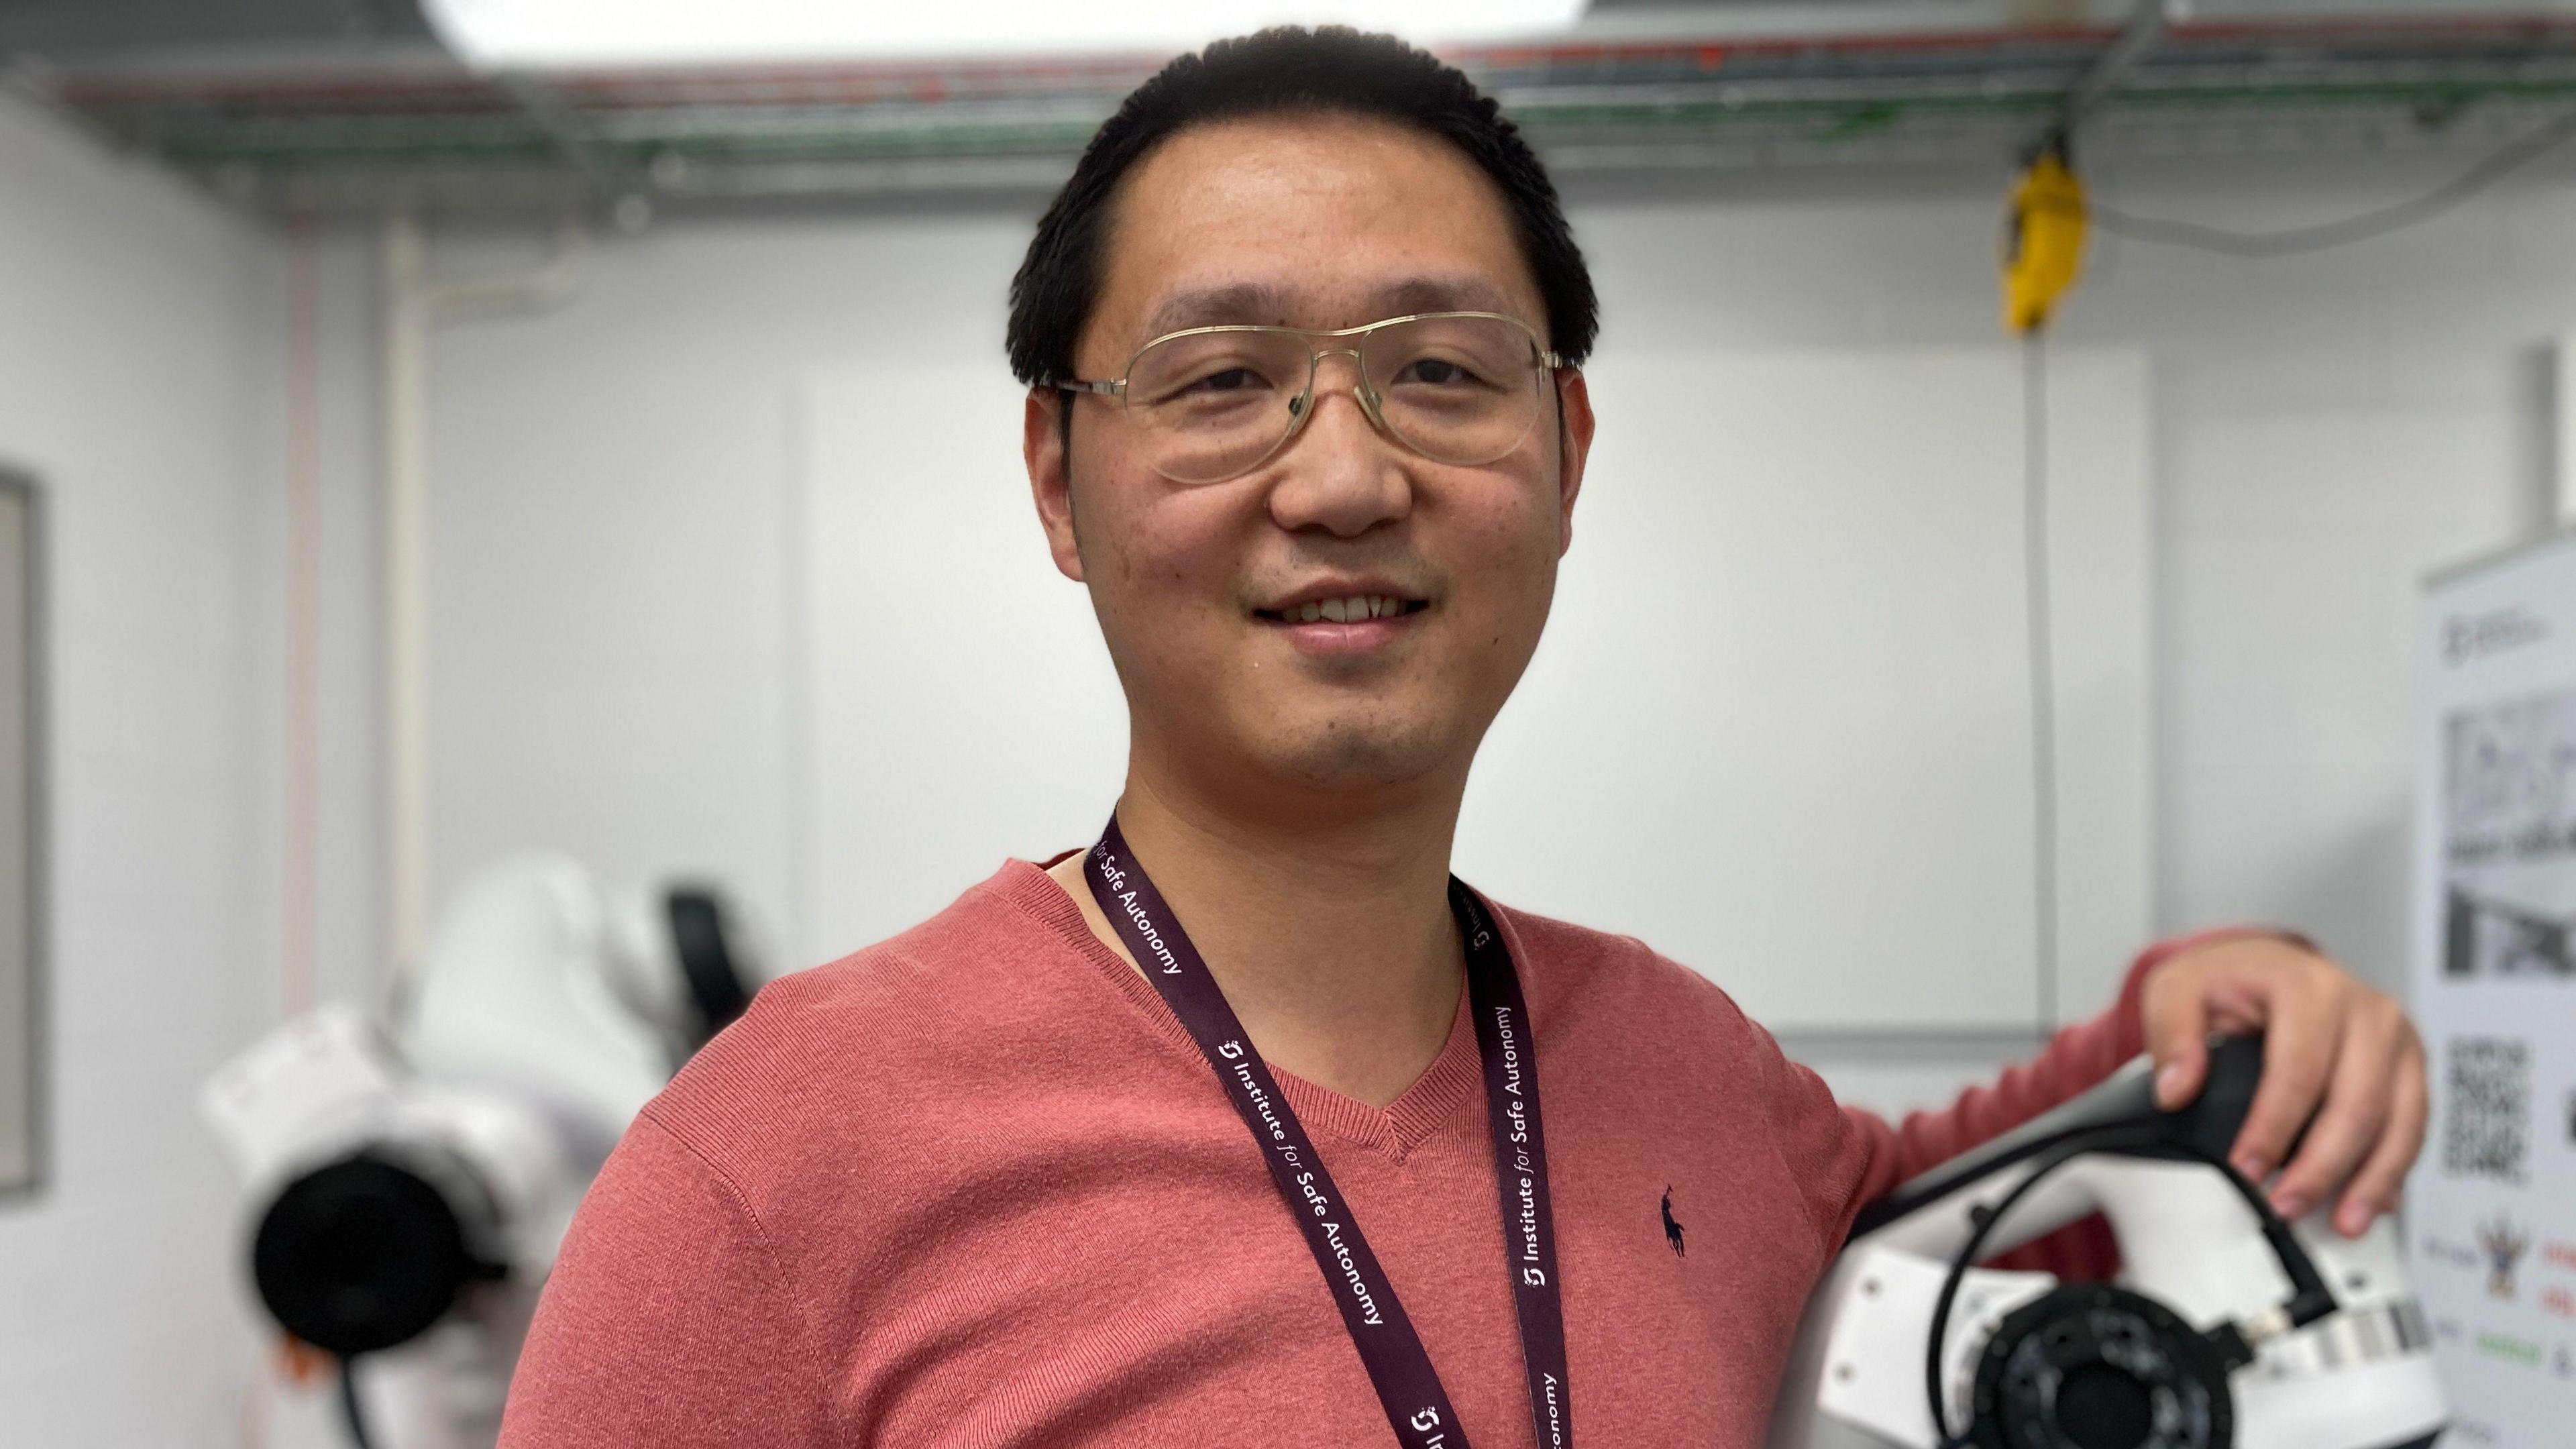
[[[1448, 856], [1463, 786], [1370, 807], [1226, 810], [1131, 761], [1118, 828], [1260, 1055], [1386, 1106], [1432, 1065], [1458, 1013]], [[1082, 856], [1054, 874], [1126, 957]]]

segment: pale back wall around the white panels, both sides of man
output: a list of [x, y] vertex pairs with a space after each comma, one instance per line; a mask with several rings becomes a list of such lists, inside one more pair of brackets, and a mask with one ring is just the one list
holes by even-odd
[[[2362, 209], [2452, 165], [2130, 165], [2097, 180], [2141, 211], [2272, 224]], [[1579, 193], [1602, 358], [1708, 340], [1991, 343], [2002, 183]], [[791, 859], [804, 766], [788, 407], [801, 379], [881, 356], [999, 369], [1025, 227], [1018, 211], [659, 227], [605, 240], [587, 289], [546, 317], [440, 333], [443, 884], [518, 843], [613, 874], [696, 864], [737, 877], [786, 926], [793, 964], [855, 946], [796, 928], [814, 913]], [[2097, 248], [2061, 338], [2154, 361], [2159, 928], [2280, 920], [2372, 980], [2403, 980], [2414, 578], [2537, 526], [2537, 348], [2576, 312], [2571, 227], [2576, 186], [2537, 170], [2318, 258]], [[453, 271], [528, 255], [520, 240], [440, 245]], [[1906, 969], [1901, 949], [1891, 969]], [[1873, 1101], [2027, 1047], [1793, 1044]]]

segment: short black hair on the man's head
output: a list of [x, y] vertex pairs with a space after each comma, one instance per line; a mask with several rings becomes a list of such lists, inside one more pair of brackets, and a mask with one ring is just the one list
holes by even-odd
[[1030, 387], [1074, 379], [1074, 343], [1100, 302], [1110, 201], [1146, 152], [1188, 126], [1301, 111], [1383, 119], [1466, 152], [1502, 191], [1548, 309], [1548, 345], [1569, 366], [1584, 361], [1600, 333], [1592, 271], [1556, 183], [1502, 106], [1396, 36], [1278, 26], [1175, 59], [1100, 124], [1010, 281], [1010, 371]]

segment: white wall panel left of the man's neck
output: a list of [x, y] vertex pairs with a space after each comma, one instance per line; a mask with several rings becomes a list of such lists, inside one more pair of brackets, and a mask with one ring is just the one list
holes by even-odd
[[806, 959], [1087, 846], [1118, 802], [1126, 699], [1046, 554], [1020, 400], [984, 364], [806, 389]]

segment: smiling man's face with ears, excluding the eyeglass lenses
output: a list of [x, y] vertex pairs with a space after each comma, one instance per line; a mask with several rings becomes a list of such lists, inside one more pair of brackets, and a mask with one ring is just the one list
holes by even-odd
[[[1546, 338], [1494, 186], [1381, 121], [1182, 131], [1128, 173], [1105, 258], [1082, 376], [1121, 376], [1151, 338], [1216, 322], [1481, 309]], [[1582, 379], [1540, 379], [1528, 438], [1481, 467], [1378, 433], [1355, 382], [1347, 356], [1324, 358], [1298, 436], [1213, 485], [1162, 477], [1113, 397], [1030, 397], [1038, 513], [1056, 567], [1092, 590], [1136, 748], [1203, 784], [1458, 789], [1538, 647], [1592, 438]], [[1072, 456], [1059, 405], [1077, 410]], [[1301, 619], [1355, 596], [1399, 611]]]

